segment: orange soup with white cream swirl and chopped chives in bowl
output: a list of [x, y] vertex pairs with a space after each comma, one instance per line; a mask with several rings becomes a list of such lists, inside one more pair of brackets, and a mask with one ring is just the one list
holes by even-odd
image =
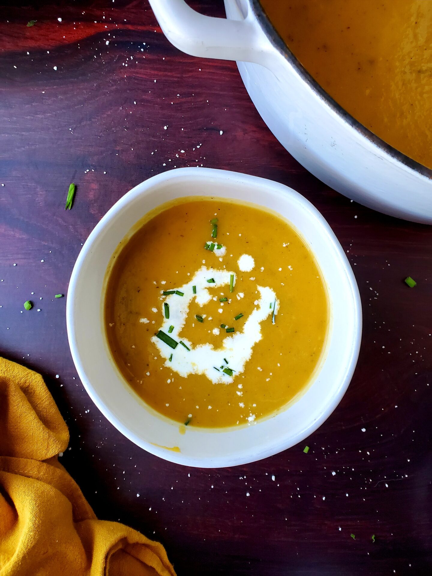
[[216, 198], [165, 204], [119, 245], [107, 278], [112, 357], [182, 425], [256, 422], [317, 367], [327, 292], [305, 242], [274, 213]]

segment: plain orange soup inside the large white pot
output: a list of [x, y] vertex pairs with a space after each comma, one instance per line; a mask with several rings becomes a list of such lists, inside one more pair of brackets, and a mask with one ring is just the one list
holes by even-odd
[[431, 0], [260, 0], [282, 39], [355, 119], [432, 168]]

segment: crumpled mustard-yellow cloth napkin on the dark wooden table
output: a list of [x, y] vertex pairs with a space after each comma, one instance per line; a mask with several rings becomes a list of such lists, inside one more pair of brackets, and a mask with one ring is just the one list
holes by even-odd
[[40, 374], [0, 358], [0, 575], [175, 576], [161, 544], [97, 520], [57, 460], [68, 442]]

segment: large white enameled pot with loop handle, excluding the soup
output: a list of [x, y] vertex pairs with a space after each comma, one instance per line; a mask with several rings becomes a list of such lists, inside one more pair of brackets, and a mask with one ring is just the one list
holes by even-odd
[[432, 170], [345, 112], [286, 47], [258, 0], [225, 0], [228, 19], [184, 0], [150, 0], [162, 31], [194, 56], [236, 60], [264, 122], [300, 164], [365, 206], [432, 223]]

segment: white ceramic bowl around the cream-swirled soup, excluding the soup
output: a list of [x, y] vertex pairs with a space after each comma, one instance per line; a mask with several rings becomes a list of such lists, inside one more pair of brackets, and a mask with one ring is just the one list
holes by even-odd
[[[123, 380], [105, 338], [104, 278], [115, 249], [147, 212], [183, 196], [219, 196], [274, 210], [300, 232], [316, 256], [328, 289], [331, 321], [312, 383], [279, 414], [236, 429], [188, 427], [147, 406]], [[302, 441], [338, 406], [353, 375], [362, 331], [357, 283], [342, 247], [321, 214], [300, 194], [255, 176], [180, 168], [153, 176], [123, 196], [101, 219], [79, 253], [67, 297], [67, 334], [79, 377], [99, 410], [148, 452], [197, 467], [245, 464]], [[173, 450], [174, 449], [174, 450]]]

